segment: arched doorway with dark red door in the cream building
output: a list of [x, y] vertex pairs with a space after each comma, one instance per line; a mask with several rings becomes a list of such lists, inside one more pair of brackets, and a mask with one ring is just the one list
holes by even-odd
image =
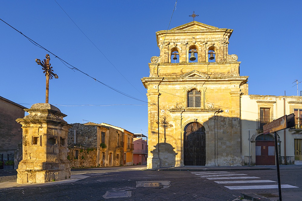
[[270, 134], [256, 137], [256, 165], [275, 165], [275, 138]]

